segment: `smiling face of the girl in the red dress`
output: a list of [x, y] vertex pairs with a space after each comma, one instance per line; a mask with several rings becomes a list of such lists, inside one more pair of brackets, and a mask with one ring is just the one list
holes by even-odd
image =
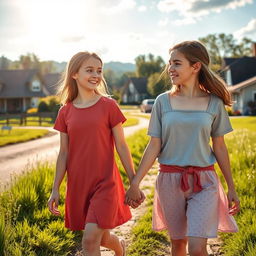
[[72, 77], [76, 80], [78, 87], [93, 91], [102, 81], [102, 64], [98, 59], [90, 57]]

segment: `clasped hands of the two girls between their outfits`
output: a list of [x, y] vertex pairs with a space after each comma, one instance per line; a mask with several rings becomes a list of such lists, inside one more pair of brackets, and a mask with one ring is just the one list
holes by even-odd
[[137, 208], [145, 200], [144, 193], [139, 189], [139, 186], [131, 184], [125, 195], [125, 204], [128, 204], [133, 209]]

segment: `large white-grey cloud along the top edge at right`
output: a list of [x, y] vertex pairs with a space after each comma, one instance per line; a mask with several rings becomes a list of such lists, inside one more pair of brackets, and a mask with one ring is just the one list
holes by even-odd
[[235, 9], [252, 3], [253, 0], [161, 0], [157, 8], [164, 13], [178, 12], [184, 19], [174, 21], [173, 24], [182, 25], [195, 23], [210, 12]]

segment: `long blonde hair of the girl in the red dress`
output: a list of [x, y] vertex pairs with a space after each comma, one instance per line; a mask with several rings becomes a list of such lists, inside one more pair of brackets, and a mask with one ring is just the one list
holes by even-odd
[[[78, 52], [75, 54], [66, 66], [66, 70], [62, 74], [61, 81], [59, 82], [59, 88], [57, 91], [57, 95], [60, 97], [61, 104], [66, 104], [68, 102], [72, 102], [78, 95], [78, 88], [76, 80], [73, 78], [84, 61], [87, 61], [89, 58], [95, 58], [99, 60], [103, 66], [103, 62], [101, 58], [96, 53], [91, 52]], [[104, 78], [95, 89], [95, 93], [103, 96], [109, 96], [107, 83]]]

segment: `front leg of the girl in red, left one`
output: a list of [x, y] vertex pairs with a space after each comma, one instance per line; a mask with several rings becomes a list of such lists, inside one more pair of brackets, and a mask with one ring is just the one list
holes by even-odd
[[87, 223], [82, 238], [83, 253], [86, 256], [100, 256], [100, 243], [105, 229], [95, 223]]

